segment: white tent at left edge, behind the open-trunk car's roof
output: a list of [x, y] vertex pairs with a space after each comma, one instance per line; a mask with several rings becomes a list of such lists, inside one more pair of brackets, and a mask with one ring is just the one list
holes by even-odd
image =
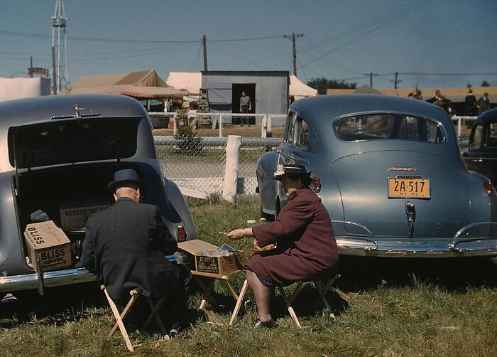
[[0, 78], [0, 102], [50, 95], [49, 78]]

